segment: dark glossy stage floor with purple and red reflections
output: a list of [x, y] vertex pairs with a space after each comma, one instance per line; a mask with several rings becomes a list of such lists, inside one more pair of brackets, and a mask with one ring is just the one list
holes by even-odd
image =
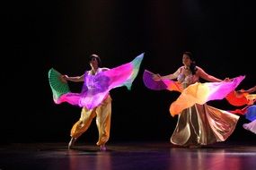
[[2, 144], [0, 170], [255, 170], [256, 143], [217, 143], [189, 149], [168, 142], [109, 143], [106, 151], [94, 144]]

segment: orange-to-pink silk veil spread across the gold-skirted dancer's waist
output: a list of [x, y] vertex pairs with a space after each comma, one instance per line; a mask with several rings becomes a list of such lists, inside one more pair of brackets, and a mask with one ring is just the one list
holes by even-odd
[[179, 115], [183, 109], [195, 104], [203, 105], [207, 101], [223, 99], [243, 81], [245, 76], [238, 76], [232, 81], [196, 82], [181, 92], [179, 98], [172, 102], [170, 113]]

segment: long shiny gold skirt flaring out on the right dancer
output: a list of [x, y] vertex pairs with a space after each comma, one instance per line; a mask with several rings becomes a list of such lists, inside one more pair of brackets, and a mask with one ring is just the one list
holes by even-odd
[[171, 142], [180, 146], [224, 141], [234, 132], [239, 119], [238, 115], [207, 104], [186, 108], [178, 116]]

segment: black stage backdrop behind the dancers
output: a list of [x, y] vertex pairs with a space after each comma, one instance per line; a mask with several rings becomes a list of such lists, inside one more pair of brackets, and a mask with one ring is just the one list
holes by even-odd
[[[68, 142], [81, 108], [56, 105], [49, 88], [51, 67], [70, 76], [89, 69], [88, 55], [103, 66], [125, 64], [145, 53], [132, 90], [112, 89], [110, 141], [169, 141], [177, 117], [169, 106], [178, 93], [146, 89], [145, 69], [160, 74], [181, 66], [181, 52], [220, 79], [246, 75], [238, 89], [255, 79], [253, 1], [16, 1], [3, 4], [1, 59], [1, 142]], [[253, 60], [252, 60], [253, 59]], [[79, 83], [70, 83], [74, 91]], [[208, 103], [234, 109], [225, 99]], [[228, 139], [256, 140], [243, 130], [241, 116]], [[95, 121], [79, 141], [96, 142]]]

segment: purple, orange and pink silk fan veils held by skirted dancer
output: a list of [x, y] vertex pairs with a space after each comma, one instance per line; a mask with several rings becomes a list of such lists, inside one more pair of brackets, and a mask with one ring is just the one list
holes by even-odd
[[170, 113], [172, 116], [181, 114], [183, 109], [186, 109], [195, 104], [203, 105], [207, 101], [223, 99], [231, 91], [240, 84], [245, 76], [235, 77], [232, 81], [222, 82], [196, 82], [191, 84], [186, 89], [182, 89], [181, 84], [177, 81], [163, 79], [161, 81], [153, 80], [154, 73], [144, 72], [144, 83], [148, 89], [160, 90], [169, 89], [180, 91], [181, 95], [176, 101], [172, 102], [170, 106]]

